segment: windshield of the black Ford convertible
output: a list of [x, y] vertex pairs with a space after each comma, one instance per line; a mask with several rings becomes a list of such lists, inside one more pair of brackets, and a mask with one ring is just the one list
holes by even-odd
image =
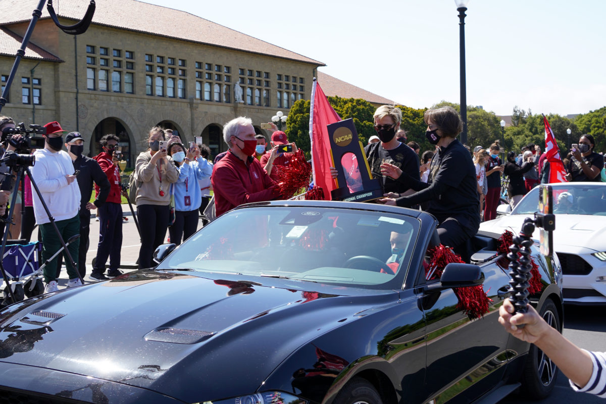
[[381, 285], [408, 270], [420, 222], [402, 214], [310, 207], [230, 211], [158, 266]]

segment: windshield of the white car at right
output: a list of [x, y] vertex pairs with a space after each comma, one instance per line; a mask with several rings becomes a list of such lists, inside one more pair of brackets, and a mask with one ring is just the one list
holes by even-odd
[[[551, 184], [553, 213], [606, 216], [606, 186], [566, 182]], [[539, 209], [539, 187], [533, 188], [511, 214], [532, 214]]]

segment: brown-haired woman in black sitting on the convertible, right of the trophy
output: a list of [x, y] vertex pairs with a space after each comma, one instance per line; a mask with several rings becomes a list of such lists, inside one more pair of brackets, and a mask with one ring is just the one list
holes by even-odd
[[381, 165], [383, 174], [417, 192], [398, 199], [379, 199], [379, 202], [401, 207], [428, 202], [428, 213], [439, 222], [440, 242], [457, 248], [473, 237], [480, 226], [476, 170], [471, 154], [456, 139], [463, 129], [463, 122], [454, 108], [427, 110], [424, 119], [427, 124], [425, 137], [438, 146], [431, 160], [427, 184], [402, 173], [392, 164], [384, 163]]

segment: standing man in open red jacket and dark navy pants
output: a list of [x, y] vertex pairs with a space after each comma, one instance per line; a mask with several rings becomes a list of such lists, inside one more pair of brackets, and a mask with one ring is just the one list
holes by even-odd
[[[105, 280], [122, 274], [118, 270], [120, 266], [120, 249], [122, 248], [122, 193], [120, 171], [118, 165], [113, 162], [113, 153], [118, 145], [119, 137], [115, 134], [106, 134], [101, 137], [102, 152], [95, 157], [101, 169], [110, 182], [110, 194], [105, 204], [98, 208], [99, 211], [99, 245], [97, 257], [90, 279]], [[95, 190], [99, 193], [99, 187], [95, 184]], [[110, 257], [110, 268], [105, 272], [105, 263]]]

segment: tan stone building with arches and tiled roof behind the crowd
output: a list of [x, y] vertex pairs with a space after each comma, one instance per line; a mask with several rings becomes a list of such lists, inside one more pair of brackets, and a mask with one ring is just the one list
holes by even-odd
[[[2, 90], [38, 0], [0, 0]], [[84, 16], [87, 0], [56, 0], [63, 25]], [[161, 18], [158, 18], [161, 16]], [[277, 110], [308, 99], [322, 62], [187, 12], [135, 0], [96, 4], [86, 33], [67, 35], [46, 8], [36, 24], [1, 114], [26, 124], [59, 121], [79, 131], [85, 153], [106, 133], [121, 139], [128, 165], [147, 148], [149, 128], [202, 136], [226, 150], [222, 125], [253, 119], [258, 133]]]

